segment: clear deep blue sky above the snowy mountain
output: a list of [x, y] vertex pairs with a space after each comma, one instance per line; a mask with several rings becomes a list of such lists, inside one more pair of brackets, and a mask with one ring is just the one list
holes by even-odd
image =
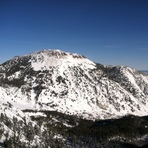
[[148, 70], [148, 0], [0, 0], [0, 63], [49, 48]]

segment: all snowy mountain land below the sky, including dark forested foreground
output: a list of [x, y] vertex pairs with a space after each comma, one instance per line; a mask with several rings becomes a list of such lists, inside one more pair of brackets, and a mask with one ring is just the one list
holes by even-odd
[[148, 144], [148, 74], [42, 50], [0, 65], [0, 147]]

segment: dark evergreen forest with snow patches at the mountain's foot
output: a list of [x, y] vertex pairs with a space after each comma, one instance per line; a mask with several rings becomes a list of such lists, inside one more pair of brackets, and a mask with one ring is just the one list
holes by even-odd
[[1, 147], [146, 148], [148, 116], [86, 120], [56, 111], [24, 110], [30, 116], [12, 120], [1, 114]]

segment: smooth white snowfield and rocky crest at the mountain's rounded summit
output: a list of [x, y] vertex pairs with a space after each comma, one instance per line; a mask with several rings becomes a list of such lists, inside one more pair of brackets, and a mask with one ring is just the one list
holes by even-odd
[[94, 68], [95, 63], [85, 58], [83, 55], [71, 54], [69, 52], [64, 52], [61, 50], [42, 50], [35, 52], [31, 55], [31, 65], [35, 71], [43, 69], [48, 69], [52, 66], [68, 67], [77, 65], [90, 65]]

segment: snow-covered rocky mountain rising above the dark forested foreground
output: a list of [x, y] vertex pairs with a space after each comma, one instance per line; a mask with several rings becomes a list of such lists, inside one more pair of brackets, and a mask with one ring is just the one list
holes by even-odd
[[0, 65], [0, 103], [87, 119], [148, 114], [148, 75], [96, 64], [82, 55], [43, 50]]

